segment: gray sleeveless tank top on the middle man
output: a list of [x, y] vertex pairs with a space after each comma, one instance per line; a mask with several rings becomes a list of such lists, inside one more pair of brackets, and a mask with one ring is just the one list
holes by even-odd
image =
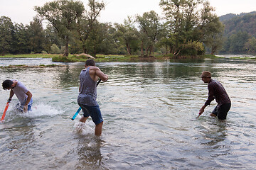
[[78, 103], [87, 106], [97, 106], [97, 81], [92, 80], [89, 74], [90, 67], [82, 69], [80, 73], [80, 91], [78, 95]]

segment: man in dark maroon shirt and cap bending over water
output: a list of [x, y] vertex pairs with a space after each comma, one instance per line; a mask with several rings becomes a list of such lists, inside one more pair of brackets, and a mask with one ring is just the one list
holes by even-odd
[[199, 114], [201, 115], [206, 106], [210, 105], [210, 102], [215, 99], [218, 105], [214, 108], [210, 115], [214, 117], [218, 116], [218, 119], [225, 120], [231, 107], [231, 101], [223, 85], [220, 84], [219, 81], [211, 79], [211, 74], [207, 71], [204, 71], [201, 74], [201, 78], [204, 83], [208, 84], [208, 99], [203, 107], [199, 110]]

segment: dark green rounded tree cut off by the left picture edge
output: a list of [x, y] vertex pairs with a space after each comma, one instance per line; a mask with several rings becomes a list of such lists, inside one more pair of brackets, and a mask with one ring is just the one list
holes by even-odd
[[11, 50], [11, 40], [14, 31], [14, 25], [11, 18], [1, 16], [0, 18], [0, 55], [5, 55]]

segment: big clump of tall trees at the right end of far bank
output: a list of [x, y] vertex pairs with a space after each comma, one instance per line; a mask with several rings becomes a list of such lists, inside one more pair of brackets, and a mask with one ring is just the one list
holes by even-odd
[[[160, 6], [164, 10], [166, 26], [169, 28], [169, 35], [166, 39], [169, 42], [165, 42], [169, 43], [170, 52], [173, 55], [186, 50], [188, 47], [186, 44], [191, 44], [191, 41], [206, 42], [205, 44], [212, 48], [212, 52], [218, 49], [216, 46], [218, 42], [210, 43], [210, 40], [221, 37], [223, 26], [218, 17], [213, 14], [214, 9], [208, 1], [161, 0]], [[190, 45], [190, 47], [196, 46]]]

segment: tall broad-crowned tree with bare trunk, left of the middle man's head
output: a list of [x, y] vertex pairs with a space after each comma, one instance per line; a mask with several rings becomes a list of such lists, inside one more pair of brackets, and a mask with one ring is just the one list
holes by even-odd
[[58, 36], [65, 40], [64, 56], [68, 56], [68, 44], [72, 31], [77, 28], [78, 20], [82, 17], [85, 10], [81, 1], [56, 0], [44, 4], [44, 6], [35, 6], [35, 11], [41, 18], [48, 20], [57, 30]]

